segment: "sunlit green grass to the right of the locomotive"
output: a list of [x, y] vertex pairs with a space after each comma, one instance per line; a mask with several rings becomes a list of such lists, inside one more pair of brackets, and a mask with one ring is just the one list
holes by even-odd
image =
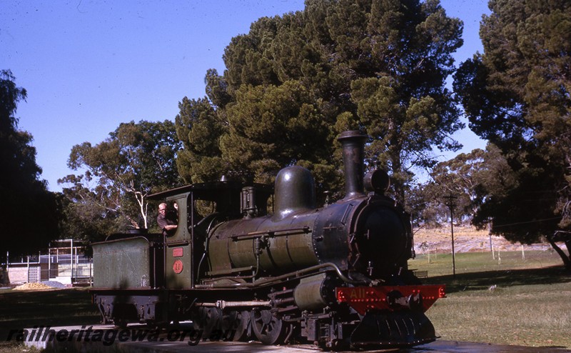
[[[427, 312], [442, 339], [571, 348], [571, 275], [550, 252], [465, 253], [418, 257], [425, 283], [447, 285], [448, 297]], [[495, 286], [495, 289], [490, 287]]]

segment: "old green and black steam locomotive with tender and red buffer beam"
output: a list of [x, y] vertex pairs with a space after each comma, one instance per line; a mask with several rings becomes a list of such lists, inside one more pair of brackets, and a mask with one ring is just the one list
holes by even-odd
[[424, 312], [445, 287], [421, 285], [408, 269], [410, 217], [385, 196], [388, 174], [363, 173], [366, 139], [340, 135], [345, 197], [322, 207], [300, 166], [282, 169], [274, 187], [222, 180], [151, 195], [178, 206], [174, 234], [93, 244], [91, 293], [103, 324], [192, 320], [236, 340], [324, 349], [435, 340]]

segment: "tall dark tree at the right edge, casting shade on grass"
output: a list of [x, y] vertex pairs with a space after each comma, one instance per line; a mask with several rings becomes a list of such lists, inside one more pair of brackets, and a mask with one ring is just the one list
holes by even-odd
[[517, 184], [487, 199], [480, 219], [492, 217], [492, 232], [512, 241], [570, 234], [571, 2], [502, 0], [490, 9], [484, 54], [462, 64], [454, 86], [470, 127], [501, 149]]

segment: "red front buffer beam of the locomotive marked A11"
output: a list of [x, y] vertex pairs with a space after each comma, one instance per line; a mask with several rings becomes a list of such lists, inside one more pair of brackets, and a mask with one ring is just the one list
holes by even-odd
[[398, 311], [410, 309], [425, 312], [437, 299], [445, 298], [445, 285], [337, 287], [335, 296], [359, 314], [372, 309]]

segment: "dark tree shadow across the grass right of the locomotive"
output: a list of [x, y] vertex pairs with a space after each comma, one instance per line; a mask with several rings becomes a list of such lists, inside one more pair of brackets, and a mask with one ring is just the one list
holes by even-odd
[[488, 289], [492, 285], [512, 287], [532, 284], [557, 284], [571, 282], [571, 273], [562, 266], [541, 269], [509, 269], [504, 271], [469, 272], [430, 277], [425, 284], [446, 284], [447, 293]]

